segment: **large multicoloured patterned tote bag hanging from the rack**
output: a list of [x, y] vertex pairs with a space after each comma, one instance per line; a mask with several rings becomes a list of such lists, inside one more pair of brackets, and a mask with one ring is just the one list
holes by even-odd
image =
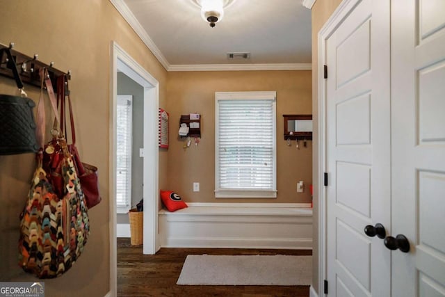
[[[58, 118], [51, 81], [46, 79], [45, 84]], [[41, 144], [43, 99], [41, 92], [37, 128]], [[36, 156], [37, 166], [20, 224], [19, 265], [38, 278], [55, 278], [71, 268], [83, 252], [90, 232], [86, 200], [65, 137], [60, 131], [53, 136]], [[51, 168], [42, 165], [44, 159], [49, 159]], [[55, 183], [63, 184], [63, 191], [56, 193]]]

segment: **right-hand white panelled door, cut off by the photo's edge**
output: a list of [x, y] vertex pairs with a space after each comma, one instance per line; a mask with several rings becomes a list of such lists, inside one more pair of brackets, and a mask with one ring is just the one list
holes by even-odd
[[391, 291], [445, 296], [445, 1], [391, 6]]

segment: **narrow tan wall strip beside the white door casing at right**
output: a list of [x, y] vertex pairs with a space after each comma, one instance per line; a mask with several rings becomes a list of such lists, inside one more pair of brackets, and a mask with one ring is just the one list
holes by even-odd
[[313, 179], [314, 179], [314, 244], [312, 255], [314, 267], [312, 285], [318, 292], [318, 31], [323, 27], [327, 19], [339, 6], [341, 0], [316, 0], [312, 7], [312, 112], [314, 115], [314, 155], [313, 155]]

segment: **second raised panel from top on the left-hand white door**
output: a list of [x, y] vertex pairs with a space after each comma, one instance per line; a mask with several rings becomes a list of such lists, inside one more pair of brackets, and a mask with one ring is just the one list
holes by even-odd
[[371, 94], [337, 104], [337, 145], [371, 143]]

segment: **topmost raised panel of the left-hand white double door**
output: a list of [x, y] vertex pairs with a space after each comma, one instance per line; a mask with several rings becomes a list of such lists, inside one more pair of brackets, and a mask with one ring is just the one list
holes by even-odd
[[371, 69], [371, 20], [337, 47], [337, 88]]

